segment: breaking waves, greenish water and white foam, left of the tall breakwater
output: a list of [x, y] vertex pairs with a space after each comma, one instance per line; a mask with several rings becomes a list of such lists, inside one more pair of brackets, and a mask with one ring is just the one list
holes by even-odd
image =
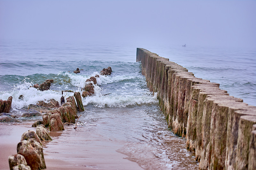
[[[26, 108], [29, 104], [36, 104], [40, 100], [48, 101], [55, 99], [60, 103], [61, 90], [71, 90], [81, 92], [81, 88], [86, 84], [86, 79], [99, 74], [93, 72], [88, 74], [74, 74], [71, 72], [59, 72], [58, 74], [36, 74], [26, 77], [17, 76], [21, 80], [18, 84], [12, 85], [8, 91], [0, 92], [0, 99], [6, 100], [9, 96], [13, 97], [13, 111]], [[37, 78], [33, 78], [33, 77]], [[43, 83], [44, 79], [53, 78], [50, 90], [39, 91], [31, 86]], [[34, 80], [35, 79], [35, 80]], [[40, 81], [41, 82], [40, 82]], [[156, 94], [146, 87], [145, 78], [140, 74], [134, 75], [111, 75], [97, 78], [97, 85], [94, 85], [95, 94], [83, 98], [83, 104], [92, 104], [94, 107], [127, 107], [141, 104], [157, 103]], [[65, 99], [74, 95], [73, 92], [65, 92]], [[108, 94], [108, 95], [104, 95]], [[19, 96], [23, 95], [23, 99]]]

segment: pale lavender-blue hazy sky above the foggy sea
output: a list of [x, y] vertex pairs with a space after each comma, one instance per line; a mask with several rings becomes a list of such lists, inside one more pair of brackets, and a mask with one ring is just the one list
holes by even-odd
[[256, 1], [0, 0], [0, 39], [256, 47]]

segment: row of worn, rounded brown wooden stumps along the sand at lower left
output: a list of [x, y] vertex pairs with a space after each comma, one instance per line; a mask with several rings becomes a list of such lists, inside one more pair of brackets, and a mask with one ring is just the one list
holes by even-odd
[[[43, 121], [36, 121], [32, 125], [32, 127], [36, 128], [36, 132], [28, 130], [23, 133], [21, 142], [17, 145], [17, 154], [9, 157], [10, 169], [33, 170], [46, 168], [41, 140], [52, 139], [45, 127], [49, 126], [50, 131], [59, 131], [64, 130], [63, 123], [75, 123], [75, 119], [78, 118], [77, 111], [84, 111], [84, 107], [80, 92], [75, 92], [74, 96], [69, 96], [66, 103], [54, 109], [39, 105], [29, 105], [29, 110], [37, 110], [39, 114], [40, 112], [46, 112], [46, 114], [43, 115]], [[45, 105], [49, 106], [52, 104], [51, 102], [55, 103], [51, 100]]]

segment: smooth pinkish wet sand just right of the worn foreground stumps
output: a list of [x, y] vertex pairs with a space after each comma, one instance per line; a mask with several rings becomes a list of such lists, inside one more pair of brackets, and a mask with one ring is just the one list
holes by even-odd
[[122, 144], [113, 143], [111, 139], [100, 140], [99, 134], [89, 134], [81, 126], [76, 130], [74, 127], [65, 126], [63, 132], [50, 132], [52, 141], [43, 143], [47, 169], [142, 169], [116, 152]]

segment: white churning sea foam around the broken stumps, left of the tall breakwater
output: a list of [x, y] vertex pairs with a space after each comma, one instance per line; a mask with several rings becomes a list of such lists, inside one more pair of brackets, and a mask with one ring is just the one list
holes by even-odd
[[[69, 83], [68, 86], [75, 86], [76, 92], [81, 92], [81, 88], [88, 82], [85, 82], [86, 79], [91, 76], [95, 76], [97, 72], [92, 73], [91, 75], [84, 74], [73, 74], [70, 72], [59, 73], [59, 76], [68, 77], [66, 82]], [[95, 94], [90, 97], [83, 98], [83, 104], [93, 104], [95, 107], [127, 107], [132, 105], [141, 105], [148, 103], [157, 103], [156, 94], [152, 95], [147, 88], [139, 88], [140, 82], [123, 82], [124, 80], [129, 79], [139, 79], [134, 76], [127, 75], [117, 75], [117, 76], [102, 76], [99, 75], [97, 79], [97, 85], [94, 85]], [[61, 80], [57, 80], [61, 81]], [[120, 82], [118, 87], [112, 85], [109, 95], [102, 95], [102, 85], [104, 85], [104, 90], [108, 90], [108, 84]], [[143, 81], [142, 81], [143, 82]], [[145, 82], [143, 82], [145, 83]], [[49, 101], [50, 99], [55, 99], [60, 103], [61, 92], [55, 90], [39, 91], [36, 88], [30, 87], [33, 86], [33, 82], [29, 78], [25, 78], [19, 84], [14, 85], [11, 91], [0, 92], [0, 99], [7, 100], [9, 96], [12, 96], [12, 109], [21, 109], [27, 107], [29, 104], [36, 104], [38, 101], [44, 100]], [[50, 89], [54, 88], [54, 85]], [[65, 94], [66, 93], [66, 94]], [[65, 99], [68, 96], [73, 96], [73, 92], [65, 92], [63, 95]], [[103, 93], [105, 94], [105, 92]], [[19, 96], [23, 95], [23, 99], [19, 99]]]

